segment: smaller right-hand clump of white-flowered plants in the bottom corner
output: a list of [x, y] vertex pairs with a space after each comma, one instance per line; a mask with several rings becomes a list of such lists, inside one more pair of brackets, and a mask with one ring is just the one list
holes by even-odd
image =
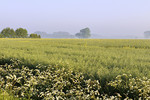
[[112, 86], [111, 93], [123, 98], [150, 99], [150, 79], [146, 77], [134, 78], [132, 75], [118, 75], [114, 81], [108, 83]]

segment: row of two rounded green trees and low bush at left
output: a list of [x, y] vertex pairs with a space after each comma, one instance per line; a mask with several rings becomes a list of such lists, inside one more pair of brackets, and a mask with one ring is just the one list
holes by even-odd
[[0, 38], [41, 38], [41, 36], [34, 33], [29, 35], [28, 31], [23, 28], [14, 30], [7, 27], [0, 32]]

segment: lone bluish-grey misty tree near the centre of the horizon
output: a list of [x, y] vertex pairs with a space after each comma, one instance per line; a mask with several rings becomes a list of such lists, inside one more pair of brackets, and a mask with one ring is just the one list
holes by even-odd
[[91, 31], [89, 28], [84, 28], [80, 30], [80, 33], [75, 34], [78, 38], [89, 38], [91, 36]]

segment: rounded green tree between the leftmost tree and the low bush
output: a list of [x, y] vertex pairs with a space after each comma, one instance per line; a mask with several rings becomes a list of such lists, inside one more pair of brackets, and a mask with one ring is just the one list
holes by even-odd
[[16, 29], [16, 37], [17, 38], [27, 38], [28, 37], [28, 31], [23, 28]]

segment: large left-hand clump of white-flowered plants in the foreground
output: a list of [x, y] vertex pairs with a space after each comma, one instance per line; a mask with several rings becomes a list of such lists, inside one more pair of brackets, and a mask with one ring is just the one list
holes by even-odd
[[27, 99], [96, 99], [100, 97], [98, 81], [85, 80], [81, 73], [57, 66], [21, 66], [19, 60], [0, 65], [0, 85], [17, 97]]

